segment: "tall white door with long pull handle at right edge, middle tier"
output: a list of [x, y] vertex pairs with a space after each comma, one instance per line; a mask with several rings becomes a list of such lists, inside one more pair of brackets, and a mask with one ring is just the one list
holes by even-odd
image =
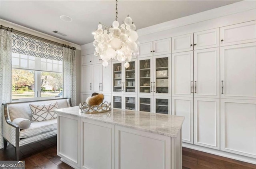
[[256, 43], [220, 48], [221, 98], [256, 100]]

